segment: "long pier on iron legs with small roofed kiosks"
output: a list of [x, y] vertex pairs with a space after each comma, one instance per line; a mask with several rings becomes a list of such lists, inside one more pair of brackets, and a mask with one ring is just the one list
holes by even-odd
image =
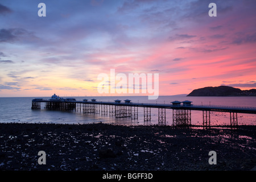
[[143, 107], [144, 122], [151, 121], [151, 109], [158, 109], [158, 124], [166, 125], [166, 112], [172, 110], [172, 126], [191, 127], [191, 111], [202, 111], [203, 127], [210, 128], [210, 112], [225, 112], [230, 115], [231, 129], [237, 129], [237, 113], [256, 114], [256, 107], [243, 106], [208, 106], [193, 105], [191, 101], [173, 101], [170, 104], [133, 103], [131, 100], [115, 100], [114, 102], [98, 102], [95, 99], [76, 101], [75, 98], [60, 98], [55, 94], [49, 100], [35, 98], [32, 100], [31, 109], [41, 109], [41, 103], [45, 103], [47, 110], [76, 111], [80, 113], [93, 113], [109, 115], [115, 118], [138, 119], [138, 107]]

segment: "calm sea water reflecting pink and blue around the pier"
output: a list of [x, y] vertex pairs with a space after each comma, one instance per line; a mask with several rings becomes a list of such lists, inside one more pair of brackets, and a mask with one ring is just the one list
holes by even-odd
[[[138, 119], [115, 118], [101, 114], [82, 114], [67, 111], [50, 111], [44, 109], [31, 110], [31, 101], [34, 97], [11, 97], [0, 98], [0, 122], [19, 122], [19, 123], [118, 123], [124, 125], [150, 125], [158, 124], [158, 109], [151, 109], [151, 121], [144, 122], [143, 108], [138, 108]], [[42, 97], [49, 99], [50, 97]], [[65, 97], [64, 97], [65, 98]], [[84, 98], [88, 100], [95, 98], [97, 101], [110, 101], [116, 99], [142, 103], [164, 103], [172, 101], [192, 101], [195, 105], [226, 105], [226, 106], [252, 106], [256, 107], [256, 97], [186, 97], [186, 96], [159, 96], [158, 100], [148, 100], [147, 96], [128, 96], [128, 97], [74, 97], [77, 101]], [[192, 111], [192, 125], [203, 124], [203, 112]], [[211, 125], [229, 125], [229, 113], [211, 112]], [[166, 110], [166, 123], [172, 125], [172, 110]], [[256, 125], [256, 114], [239, 114], [238, 125]]]

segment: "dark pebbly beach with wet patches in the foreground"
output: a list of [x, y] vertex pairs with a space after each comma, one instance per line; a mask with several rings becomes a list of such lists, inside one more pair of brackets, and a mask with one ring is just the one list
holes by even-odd
[[[0, 123], [0, 169], [250, 170], [256, 166], [255, 129]], [[39, 151], [46, 152], [46, 165], [38, 164]], [[209, 151], [216, 151], [216, 165], [209, 164]]]

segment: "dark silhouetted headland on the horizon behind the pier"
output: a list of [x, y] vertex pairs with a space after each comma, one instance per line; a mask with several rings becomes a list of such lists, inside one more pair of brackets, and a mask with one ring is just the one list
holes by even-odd
[[232, 86], [208, 86], [195, 89], [187, 96], [256, 96], [256, 89], [241, 90]]

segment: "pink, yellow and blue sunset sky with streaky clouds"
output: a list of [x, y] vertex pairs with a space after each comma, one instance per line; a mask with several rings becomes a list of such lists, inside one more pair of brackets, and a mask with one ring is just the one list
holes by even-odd
[[98, 75], [110, 69], [158, 73], [160, 96], [255, 89], [255, 7], [255, 0], [1, 0], [0, 97], [126, 96], [98, 92]]

